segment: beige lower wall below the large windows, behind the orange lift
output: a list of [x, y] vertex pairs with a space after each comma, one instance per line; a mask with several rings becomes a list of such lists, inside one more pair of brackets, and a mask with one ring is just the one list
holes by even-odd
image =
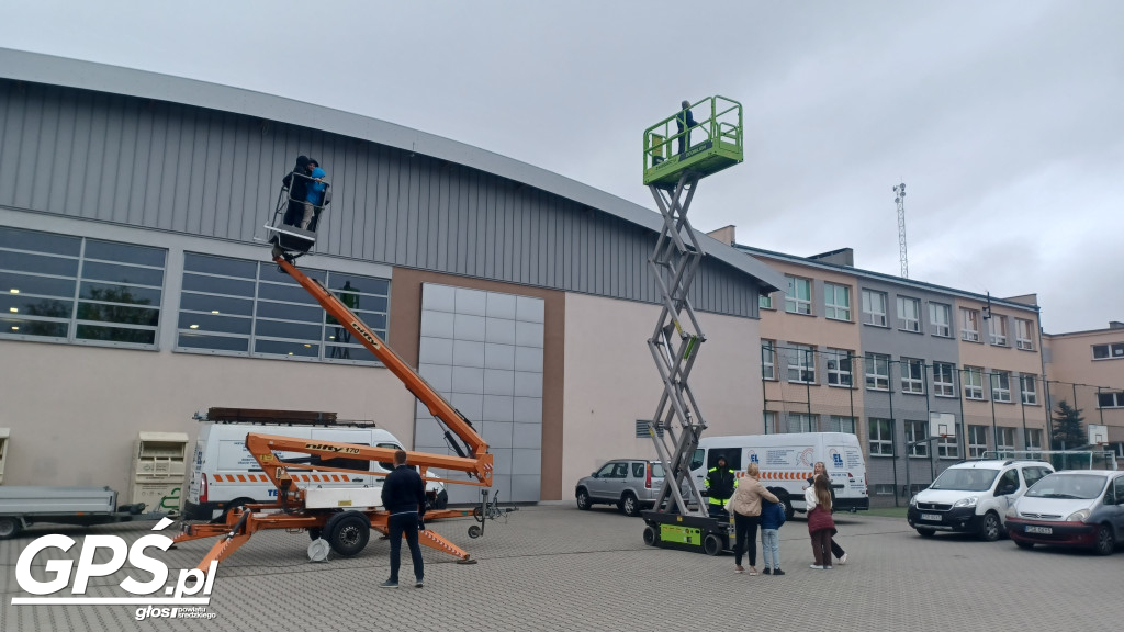
[[[374, 419], [407, 446], [414, 396], [387, 369], [30, 342], [0, 343], [0, 427], [11, 428], [4, 485], [129, 493], [138, 431], [184, 432], [194, 448], [211, 406], [334, 412]], [[190, 452], [189, 452], [190, 457]]]

